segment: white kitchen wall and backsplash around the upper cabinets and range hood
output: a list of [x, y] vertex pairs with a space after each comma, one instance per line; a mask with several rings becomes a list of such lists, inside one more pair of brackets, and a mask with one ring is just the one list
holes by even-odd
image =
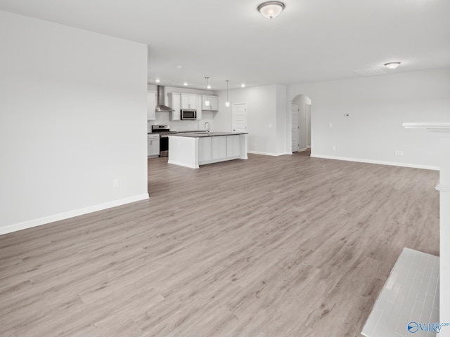
[[[158, 92], [158, 87], [154, 84], [148, 84], [148, 91]], [[165, 105], [169, 106], [167, 93], [195, 93], [197, 95], [217, 95], [214, 91], [198, 90], [192, 88], [178, 88], [175, 86], [165, 86]], [[225, 104], [225, 103], [224, 103]], [[205, 130], [205, 122], [210, 123], [210, 131], [214, 131], [214, 116], [217, 112], [203, 111], [202, 119], [197, 121], [172, 121], [170, 112], [156, 112], [155, 121], [148, 121], [148, 132], [151, 132], [153, 124], [169, 125], [172, 131], [196, 131]]]

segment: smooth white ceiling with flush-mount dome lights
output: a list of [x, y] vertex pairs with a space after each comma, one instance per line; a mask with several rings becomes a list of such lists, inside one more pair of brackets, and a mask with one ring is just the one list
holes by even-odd
[[[0, 10], [148, 45], [148, 82], [212, 89], [450, 67], [449, 0], [0, 0]], [[385, 62], [400, 61], [397, 70]], [[181, 69], [177, 69], [181, 65]]]

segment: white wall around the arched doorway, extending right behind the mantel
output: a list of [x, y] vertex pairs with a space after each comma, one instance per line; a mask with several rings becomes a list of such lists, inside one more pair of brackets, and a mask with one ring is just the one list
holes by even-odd
[[[446, 68], [297, 84], [288, 87], [288, 102], [298, 94], [311, 98], [314, 156], [436, 169], [436, 136], [405, 130], [401, 124], [450, 121], [449, 93], [450, 69]], [[396, 150], [404, 156], [395, 156]]]

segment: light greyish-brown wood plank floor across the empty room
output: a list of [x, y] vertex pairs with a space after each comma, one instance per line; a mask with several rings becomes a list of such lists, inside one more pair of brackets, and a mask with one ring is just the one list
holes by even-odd
[[0, 336], [360, 336], [401, 249], [439, 255], [437, 171], [148, 168], [148, 201], [0, 236]]

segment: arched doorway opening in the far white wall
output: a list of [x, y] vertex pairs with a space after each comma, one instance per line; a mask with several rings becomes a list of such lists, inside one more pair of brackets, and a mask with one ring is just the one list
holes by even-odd
[[292, 152], [311, 149], [311, 98], [297, 95], [291, 102]]

